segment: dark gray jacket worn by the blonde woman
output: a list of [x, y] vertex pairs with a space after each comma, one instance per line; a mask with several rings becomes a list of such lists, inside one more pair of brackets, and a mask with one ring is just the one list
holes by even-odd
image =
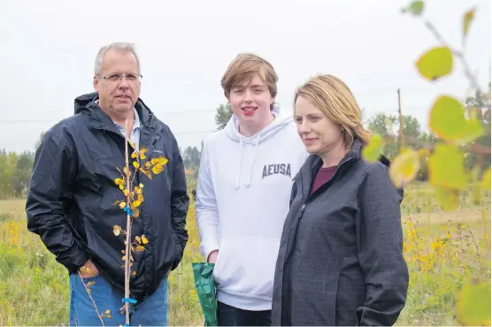
[[310, 156], [296, 176], [273, 285], [272, 325], [392, 325], [404, 308], [403, 190], [388, 160], [361, 158], [361, 143], [312, 195], [322, 164]]

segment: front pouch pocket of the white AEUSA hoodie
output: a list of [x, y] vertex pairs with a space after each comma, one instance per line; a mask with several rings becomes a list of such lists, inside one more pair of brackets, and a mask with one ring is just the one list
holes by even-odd
[[219, 290], [271, 299], [279, 244], [255, 237], [221, 240], [213, 270]]

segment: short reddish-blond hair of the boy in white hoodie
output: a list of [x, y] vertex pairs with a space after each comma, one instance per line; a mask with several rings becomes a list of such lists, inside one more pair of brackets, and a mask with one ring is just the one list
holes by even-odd
[[270, 95], [274, 98], [277, 95], [277, 81], [279, 80], [277, 73], [268, 61], [252, 53], [240, 53], [229, 64], [220, 80], [224, 95], [229, 98], [231, 88], [250, 80], [255, 73], [258, 73], [265, 82]]

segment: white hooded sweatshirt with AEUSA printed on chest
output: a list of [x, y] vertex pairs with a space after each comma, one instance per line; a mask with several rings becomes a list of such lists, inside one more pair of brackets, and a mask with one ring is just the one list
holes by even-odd
[[246, 310], [272, 308], [273, 274], [288, 214], [292, 179], [307, 152], [296, 125], [278, 107], [251, 137], [237, 118], [204, 144], [196, 188], [200, 251], [219, 249], [218, 300]]

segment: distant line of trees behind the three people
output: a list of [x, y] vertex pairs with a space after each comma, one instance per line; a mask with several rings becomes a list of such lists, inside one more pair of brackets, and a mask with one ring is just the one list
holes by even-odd
[[[485, 132], [475, 142], [490, 148], [490, 83], [488, 84], [487, 94], [481, 94], [480, 91], [477, 91], [475, 95], [467, 97], [465, 99], [465, 108], [468, 115], [474, 115], [480, 120]], [[219, 105], [215, 114], [215, 123], [218, 130], [227, 125], [231, 115], [232, 109], [228, 104]], [[399, 123], [399, 118], [396, 115], [386, 113], [378, 113], [371, 118], [365, 119], [367, 129], [373, 133], [380, 134], [386, 140], [383, 155], [390, 160], [397, 155], [400, 146]], [[425, 144], [432, 148], [439, 141], [432, 133], [423, 131], [417, 118], [411, 115], [402, 115], [402, 123], [405, 147], [418, 149], [421, 148], [422, 144]], [[450, 124], [452, 124], [451, 118]], [[42, 134], [40, 140], [36, 142], [35, 148], [39, 146], [41, 139]], [[407, 142], [409, 140], [412, 141], [411, 144]], [[181, 149], [185, 169], [192, 179], [196, 179], [198, 175], [203, 146], [204, 142], [202, 141], [200, 147]], [[24, 151], [18, 154], [0, 149], [0, 199], [26, 195], [34, 160], [34, 151]], [[490, 167], [490, 156], [480, 154], [468, 154], [466, 156], [465, 164], [468, 169], [471, 169], [477, 163], [480, 164], [481, 171], [485, 171]], [[428, 178], [427, 164], [421, 164], [420, 167], [417, 180], [426, 181]]]

